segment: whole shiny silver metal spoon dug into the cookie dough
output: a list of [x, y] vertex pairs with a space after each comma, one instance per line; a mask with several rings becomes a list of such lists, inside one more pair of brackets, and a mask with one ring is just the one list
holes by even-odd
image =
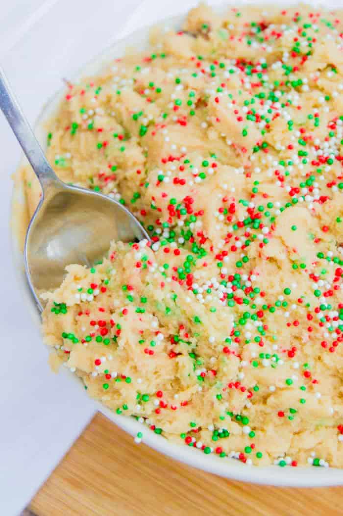
[[67, 265], [92, 265], [102, 259], [112, 240], [149, 240], [149, 235], [119, 202], [102, 193], [66, 185], [57, 178], [1, 67], [0, 108], [42, 187], [24, 247], [27, 281], [42, 311], [40, 294], [61, 284]]

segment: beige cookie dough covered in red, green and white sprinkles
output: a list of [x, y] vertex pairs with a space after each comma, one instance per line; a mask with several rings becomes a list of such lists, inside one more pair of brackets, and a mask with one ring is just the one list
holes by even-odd
[[152, 238], [44, 295], [52, 362], [199, 453], [343, 466], [341, 20], [201, 5], [70, 84], [48, 129], [59, 177]]

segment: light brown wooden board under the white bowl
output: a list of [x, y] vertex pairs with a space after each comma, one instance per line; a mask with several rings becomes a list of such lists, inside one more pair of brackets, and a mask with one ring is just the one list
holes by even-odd
[[97, 414], [30, 508], [38, 516], [335, 516], [343, 489], [228, 481], [135, 444]]

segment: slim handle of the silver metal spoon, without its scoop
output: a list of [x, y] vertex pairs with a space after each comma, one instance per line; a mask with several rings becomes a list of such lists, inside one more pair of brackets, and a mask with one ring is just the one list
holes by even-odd
[[17, 99], [11, 90], [8, 80], [0, 67], [0, 109], [3, 111], [21, 148], [34, 169], [39, 182], [44, 189], [47, 183], [58, 181], [58, 178], [48, 163], [44, 152], [26, 120]]

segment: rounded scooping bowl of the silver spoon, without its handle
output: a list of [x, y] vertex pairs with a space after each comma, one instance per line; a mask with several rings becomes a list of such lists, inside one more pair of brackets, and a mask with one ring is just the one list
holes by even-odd
[[111, 241], [143, 238], [148, 234], [118, 201], [52, 183], [30, 221], [24, 248], [26, 275], [39, 309], [39, 295], [61, 284], [67, 265], [91, 266], [102, 260]]

